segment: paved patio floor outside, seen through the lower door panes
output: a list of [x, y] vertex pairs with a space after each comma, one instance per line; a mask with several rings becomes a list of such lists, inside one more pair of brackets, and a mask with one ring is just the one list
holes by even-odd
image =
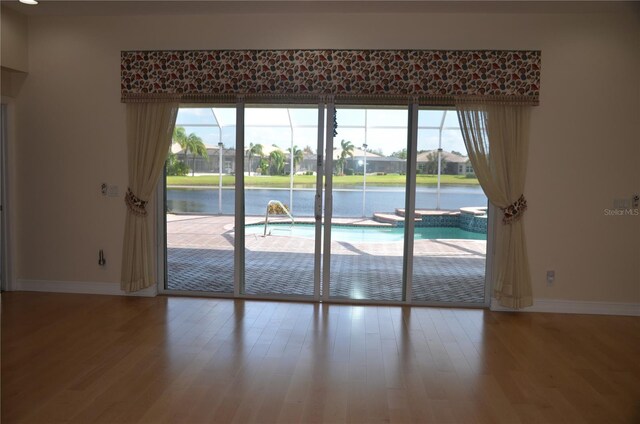
[[[233, 293], [233, 237], [229, 216], [169, 216], [168, 288]], [[313, 294], [313, 240], [247, 235], [245, 246], [247, 294]], [[332, 242], [331, 251], [331, 297], [402, 299], [402, 242]], [[413, 299], [483, 302], [485, 251], [483, 240], [416, 241]]]

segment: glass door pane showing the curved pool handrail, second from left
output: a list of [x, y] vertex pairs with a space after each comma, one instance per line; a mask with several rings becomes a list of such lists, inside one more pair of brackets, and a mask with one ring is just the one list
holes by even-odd
[[245, 108], [246, 295], [314, 295], [317, 106]]

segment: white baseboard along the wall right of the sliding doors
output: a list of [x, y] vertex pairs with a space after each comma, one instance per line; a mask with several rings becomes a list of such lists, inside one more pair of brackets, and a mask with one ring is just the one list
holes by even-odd
[[[491, 299], [492, 311], [511, 311]], [[629, 315], [640, 316], [640, 303], [589, 302], [582, 300], [534, 299], [533, 306], [518, 309], [518, 312], [551, 312], [557, 314]]]

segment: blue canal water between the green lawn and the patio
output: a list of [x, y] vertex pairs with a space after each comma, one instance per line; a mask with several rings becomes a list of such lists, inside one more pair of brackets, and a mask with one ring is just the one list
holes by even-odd
[[[333, 190], [333, 216], [362, 216], [362, 187]], [[235, 190], [222, 189], [222, 213], [233, 215]], [[289, 205], [289, 189], [246, 188], [246, 215], [264, 215], [267, 203], [279, 200]], [[293, 190], [293, 216], [313, 216], [314, 189]], [[374, 212], [391, 212], [405, 207], [404, 187], [367, 186], [365, 216]], [[416, 209], [435, 209], [435, 187], [417, 187]], [[440, 209], [459, 209], [465, 206], [486, 206], [487, 198], [479, 186], [444, 186], [440, 189]], [[218, 214], [218, 188], [167, 188], [167, 212], [191, 214]]]

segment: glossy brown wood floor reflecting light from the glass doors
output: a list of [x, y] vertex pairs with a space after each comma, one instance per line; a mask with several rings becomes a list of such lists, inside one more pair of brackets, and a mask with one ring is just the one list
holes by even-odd
[[3, 293], [3, 423], [631, 423], [640, 318]]

